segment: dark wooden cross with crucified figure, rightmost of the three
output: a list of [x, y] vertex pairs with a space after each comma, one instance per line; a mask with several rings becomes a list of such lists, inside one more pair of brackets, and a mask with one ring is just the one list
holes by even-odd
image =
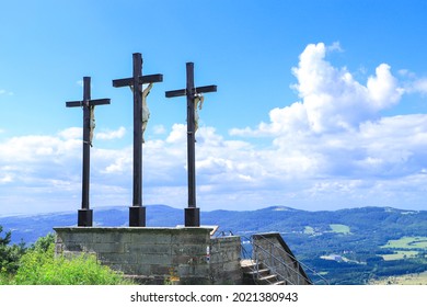
[[199, 94], [216, 92], [217, 86], [194, 87], [194, 62], [186, 64], [187, 86], [185, 89], [168, 91], [166, 98], [187, 96], [187, 168], [188, 168], [188, 207], [185, 208], [185, 226], [200, 226], [200, 209], [196, 205], [196, 150], [195, 150], [195, 102]]

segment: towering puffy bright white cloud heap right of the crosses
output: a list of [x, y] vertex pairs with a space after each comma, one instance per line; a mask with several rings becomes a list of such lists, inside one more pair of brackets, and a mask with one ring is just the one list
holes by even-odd
[[[336, 50], [335, 44], [331, 50]], [[366, 84], [356, 81], [347, 68], [333, 67], [326, 59], [323, 43], [308, 45], [300, 55], [292, 73], [298, 83], [292, 86], [301, 101], [270, 111], [270, 123], [262, 123], [257, 130], [232, 129], [231, 135], [264, 135], [282, 133], [332, 133], [351, 130], [365, 121], [374, 120], [379, 112], [395, 105], [404, 90], [381, 64]]]

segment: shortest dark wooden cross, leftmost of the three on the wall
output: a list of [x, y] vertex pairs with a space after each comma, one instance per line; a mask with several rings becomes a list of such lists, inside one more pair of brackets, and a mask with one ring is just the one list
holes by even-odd
[[83, 109], [83, 172], [82, 172], [82, 201], [78, 214], [78, 226], [92, 226], [93, 213], [89, 206], [91, 146], [94, 128], [93, 110], [95, 105], [109, 104], [109, 99], [91, 100], [91, 77], [83, 77], [83, 100], [68, 101], [68, 107], [81, 106]]

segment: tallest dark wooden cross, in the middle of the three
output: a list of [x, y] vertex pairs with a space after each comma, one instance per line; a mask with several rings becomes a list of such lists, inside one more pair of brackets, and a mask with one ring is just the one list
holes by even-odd
[[163, 75], [142, 76], [141, 54], [132, 55], [134, 76], [113, 80], [113, 87], [131, 87], [134, 91], [134, 197], [129, 207], [129, 226], [146, 226], [146, 207], [142, 206], [142, 84], [162, 82]]

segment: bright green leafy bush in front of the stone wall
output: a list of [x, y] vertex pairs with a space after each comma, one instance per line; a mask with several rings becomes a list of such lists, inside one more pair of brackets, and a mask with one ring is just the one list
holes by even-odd
[[54, 257], [55, 245], [35, 243], [21, 259], [12, 281], [18, 285], [117, 285], [127, 284], [123, 274], [82, 254], [73, 259]]

